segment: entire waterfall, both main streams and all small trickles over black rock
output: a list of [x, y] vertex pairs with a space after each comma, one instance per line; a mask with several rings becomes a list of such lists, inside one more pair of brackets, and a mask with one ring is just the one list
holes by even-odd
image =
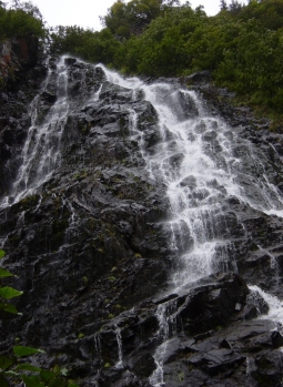
[[[105, 79], [101, 78], [95, 86], [89, 88], [85, 82], [85, 71], [81, 70], [82, 91], [78, 95], [70, 93], [69, 82], [72, 74], [64, 58], [58, 62], [55, 74], [53, 70], [49, 71], [41, 94], [34, 99], [30, 108], [31, 126], [20, 156], [21, 166], [18, 176], [9, 197], [4, 198], [1, 206], [17, 203], [34, 193], [39, 194], [37, 208], [41, 205], [42, 185], [51, 180], [62, 164], [62, 139], [68, 119], [74, 110], [82, 114], [84, 109], [95, 106], [99, 111], [101, 108], [99, 103], [104, 101], [103, 93], [109, 83], [112, 83], [124, 88], [131, 94], [131, 102], [125, 111], [129, 118], [127, 135], [138, 143], [137, 152], [143, 160], [137, 169], [144, 169], [155, 185], [165, 186], [169, 208], [166, 218], [162, 220], [162, 226], [169, 235], [168, 246], [172, 257], [172, 273], [164, 291], [165, 295], [180, 295], [201, 278], [218, 272], [236, 272], [232, 226], [239, 225], [241, 235], [246, 238], [249, 231], [242, 222], [241, 213], [231, 214], [230, 201], [235, 205], [239, 203], [246, 206], [254, 213], [283, 217], [283, 198], [275, 180], [270, 177], [267, 171], [271, 165], [269, 152], [261, 152], [256, 144], [242, 138], [221, 118], [211, 115], [195, 91], [186, 90], [185, 86], [174, 82], [146, 83], [138, 78], [124, 79], [101, 64], [89, 68], [93, 72], [102, 69]], [[39, 116], [40, 99], [48, 90], [50, 79], [54, 77], [57, 101], [42, 119]], [[72, 102], [73, 98], [77, 99], [77, 104]], [[141, 112], [135, 103], [138, 100], [145, 101], [152, 108], [150, 119], [152, 125], [155, 125], [155, 140], [151, 144], [146, 138], [146, 130], [140, 124]], [[79, 145], [84, 156], [83, 144]], [[272, 146], [270, 150], [274, 155], [275, 150]], [[65, 242], [71, 244], [80, 222], [77, 204], [85, 212], [89, 208], [79, 202], [73, 193], [69, 197], [64, 196], [64, 193], [59, 193], [57, 197], [68, 210], [69, 227], [65, 232]], [[95, 216], [97, 214], [98, 212]], [[24, 222], [23, 211], [18, 218], [17, 227], [23, 226]], [[94, 226], [91, 230], [95, 230]], [[277, 274], [276, 256], [260, 244], [257, 248], [267, 254], [271, 269]], [[267, 295], [256, 285], [251, 285], [250, 289], [257, 292], [271, 306], [266, 318], [283, 320], [279, 298]], [[166, 298], [154, 310], [159, 325], [154, 336], [156, 345], [153, 354], [156, 367], [149, 381], [151, 386], [161, 387], [165, 383], [163, 366], [166, 348], [178, 330], [178, 306], [174, 299]], [[121, 328], [120, 325], [114, 327], [118, 343], [118, 361], [114, 367], [117, 371], [125, 369]], [[94, 336], [94, 346], [97, 356], [102, 359], [99, 334]], [[246, 375], [250, 375], [249, 361], [247, 358]]]

